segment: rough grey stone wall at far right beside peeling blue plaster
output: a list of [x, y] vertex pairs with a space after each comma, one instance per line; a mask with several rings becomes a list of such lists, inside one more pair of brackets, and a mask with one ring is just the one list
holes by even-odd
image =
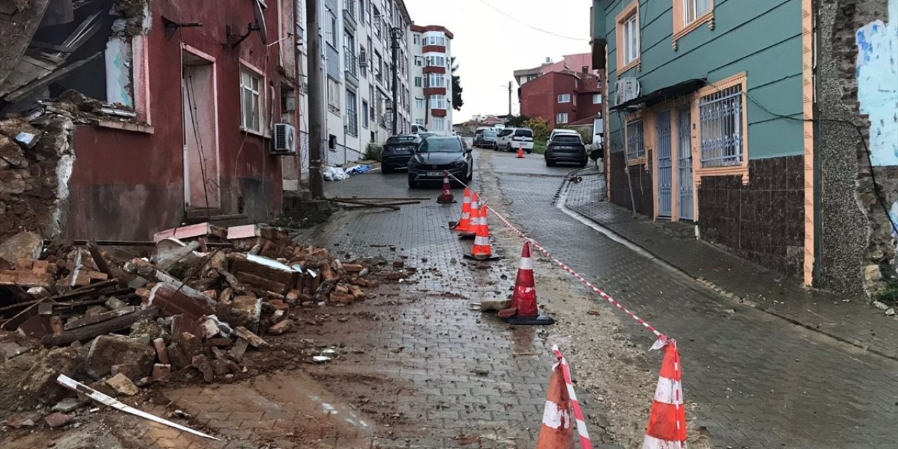
[[892, 226], [882, 204], [892, 207], [898, 199], [898, 171], [875, 167], [882, 198], [877, 196], [867, 153], [870, 121], [858, 101], [858, 30], [871, 22], [898, 22], [886, 17], [889, 3], [896, 0], [817, 4], [814, 285], [849, 295], [875, 292], [883, 272], [894, 274], [895, 268]]

